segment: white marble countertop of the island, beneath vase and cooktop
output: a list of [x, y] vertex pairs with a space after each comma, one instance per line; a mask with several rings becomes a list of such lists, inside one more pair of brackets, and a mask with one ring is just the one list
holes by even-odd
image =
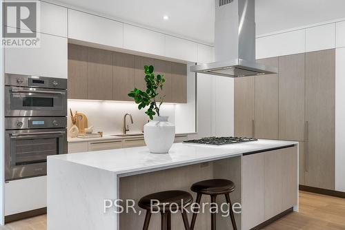
[[147, 147], [134, 147], [48, 156], [48, 161], [63, 160], [112, 171], [119, 176], [128, 176], [297, 144], [294, 141], [283, 140], [257, 140], [221, 146], [177, 143], [172, 145], [168, 154], [150, 154]]

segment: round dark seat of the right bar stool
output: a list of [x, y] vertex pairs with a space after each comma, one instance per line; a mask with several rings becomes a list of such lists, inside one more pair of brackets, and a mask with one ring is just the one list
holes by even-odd
[[199, 194], [230, 194], [235, 190], [235, 184], [224, 179], [202, 180], [193, 184], [190, 190]]

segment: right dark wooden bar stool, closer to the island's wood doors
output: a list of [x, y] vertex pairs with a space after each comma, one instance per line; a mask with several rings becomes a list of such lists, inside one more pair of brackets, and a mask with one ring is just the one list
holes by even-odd
[[[230, 205], [230, 218], [233, 224], [233, 229], [237, 230], [235, 216], [233, 213], [230, 193], [235, 190], [235, 184], [231, 180], [224, 179], [213, 179], [213, 180], [203, 180], [196, 182], [190, 187], [190, 190], [197, 193], [197, 203], [200, 205], [200, 200], [202, 195], [209, 195], [211, 197], [211, 202], [215, 203], [218, 195], [224, 195], [226, 202]], [[197, 219], [197, 212], [193, 213], [192, 222], [190, 224], [190, 230], [195, 227], [195, 220]], [[216, 213], [211, 213], [211, 230], [216, 230]]]

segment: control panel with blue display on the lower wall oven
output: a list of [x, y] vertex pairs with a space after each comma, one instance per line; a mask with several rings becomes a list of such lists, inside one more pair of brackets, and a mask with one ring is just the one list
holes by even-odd
[[6, 129], [65, 128], [66, 117], [7, 117]]

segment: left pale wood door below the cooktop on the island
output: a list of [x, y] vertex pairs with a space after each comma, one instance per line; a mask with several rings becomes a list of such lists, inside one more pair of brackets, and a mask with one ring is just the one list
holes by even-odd
[[242, 229], [264, 222], [265, 153], [244, 156], [242, 170]]

